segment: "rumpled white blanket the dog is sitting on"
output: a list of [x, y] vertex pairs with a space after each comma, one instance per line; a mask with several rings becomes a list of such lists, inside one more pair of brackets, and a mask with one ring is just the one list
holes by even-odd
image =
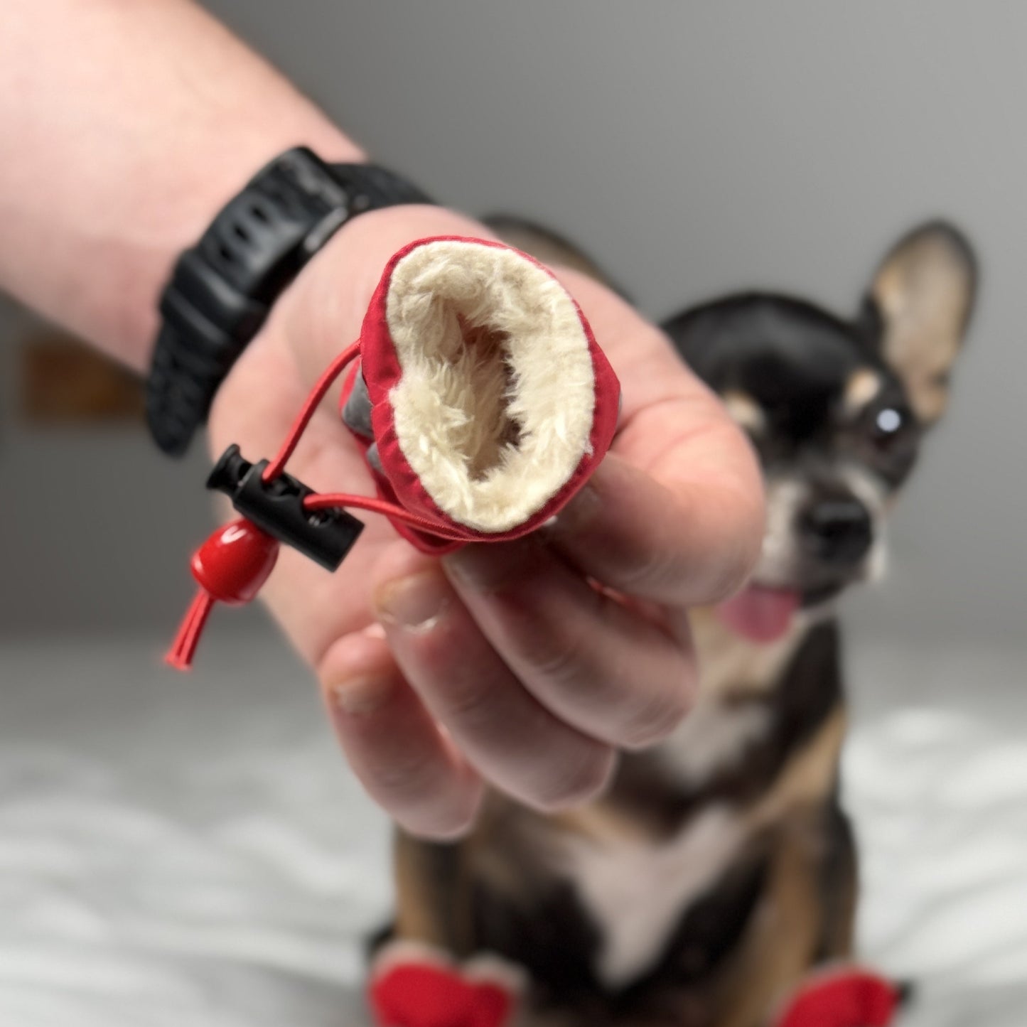
[[[277, 643], [204, 640], [189, 678], [152, 655], [0, 648], [0, 1027], [365, 1023], [387, 827], [312, 688]], [[1027, 1023], [1027, 728], [1002, 709], [877, 709], [848, 748], [864, 949], [921, 982], [909, 1027]]]

